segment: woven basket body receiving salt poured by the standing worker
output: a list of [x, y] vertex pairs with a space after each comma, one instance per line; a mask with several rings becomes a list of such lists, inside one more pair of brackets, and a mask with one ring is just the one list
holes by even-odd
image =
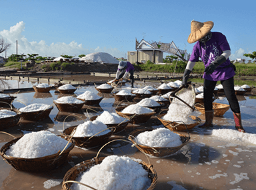
[[195, 121], [195, 123], [193, 124], [183, 124], [183, 123], [177, 123], [177, 122], [171, 122], [171, 121], [167, 121], [167, 120], [163, 120], [162, 117], [165, 114], [159, 114], [157, 116], [157, 119], [169, 130], [171, 131], [186, 131], [186, 130], [192, 130], [193, 128], [195, 128], [195, 126], [197, 126], [198, 124], [200, 124], [201, 120], [195, 116], [191, 116], [191, 118]]

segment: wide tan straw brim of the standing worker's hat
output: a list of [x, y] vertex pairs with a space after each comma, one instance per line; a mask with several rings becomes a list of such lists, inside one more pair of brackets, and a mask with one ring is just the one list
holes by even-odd
[[201, 27], [201, 29], [199, 29], [189, 35], [187, 42], [192, 44], [192, 43], [195, 43], [196, 41], [203, 39], [203, 37], [205, 37], [207, 35], [207, 33], [209, 33], [209, 31], [211, 31], [212, 28], [213, 28], [212, 21], [207, 21], [207, 22], [203, 23], [203, 27]]

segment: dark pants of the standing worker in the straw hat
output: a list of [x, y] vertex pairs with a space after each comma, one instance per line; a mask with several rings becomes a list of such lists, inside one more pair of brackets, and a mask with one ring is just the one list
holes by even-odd
[[[213, 110], [213, 90], [217, 81], [204, 80], [203, 82], [203, 99], [205, 104], [205, 111]], [[231, 77], [227, 80], [221, 80], [225, 96], [229, 102], [229, 106], [234, 113], [240, 113], [240, 106], [235, 95], [234, 78]]]

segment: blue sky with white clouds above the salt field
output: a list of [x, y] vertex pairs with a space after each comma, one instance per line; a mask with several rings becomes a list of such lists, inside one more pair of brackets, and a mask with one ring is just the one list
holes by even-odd
[[[234, 1], [233, 1], [234, 2]], [[212, 31], [223, 33], [231, 60], [256, 50], [256, 1], [54, 1], [0, 0], [0, 35], [11, 43], [7, 56], [78, 56], [108, 52], [127, 57], [135, 39], [172, 41], [191, 53], [190, 23], [213, 21]], [[5, 56], [5, 53], [1, 53]]]

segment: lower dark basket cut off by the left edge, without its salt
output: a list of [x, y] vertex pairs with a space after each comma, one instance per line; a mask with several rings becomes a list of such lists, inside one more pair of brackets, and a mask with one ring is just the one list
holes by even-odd
[[15, 112], [17, 115], [11, 116], [8, 118], [0, 118], [0, 130], [4, 130], [7, 128], [12, 128], [14, 126], [17, 126], [19, 123], [19, 119], [21, 118], [21, 112], [17, 109], [7, 109]]

